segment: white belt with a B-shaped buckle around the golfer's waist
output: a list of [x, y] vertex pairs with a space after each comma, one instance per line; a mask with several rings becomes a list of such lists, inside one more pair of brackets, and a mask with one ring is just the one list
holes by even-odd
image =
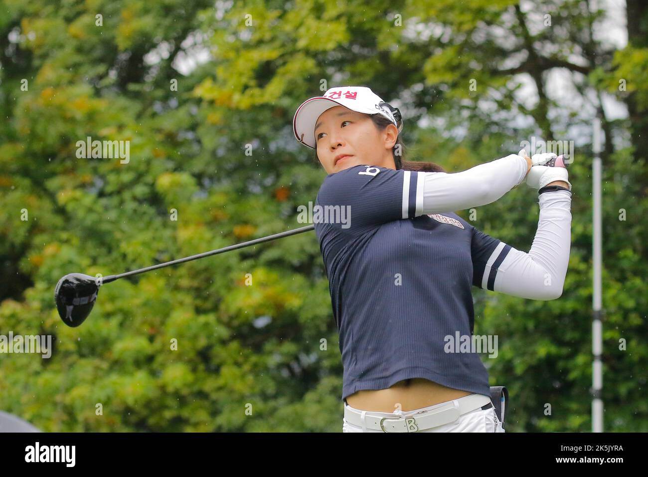
[[392, 417], [372, 415], [372, 411], [354, 410], [345, 403], [344, 418], [349, 424], [362, 427], [362, 414], [364, 413], [367, 429], [382, 430], [383, 432], [416, 432], [454, 422], [459, 419], [459, 416], [489, 403], [491, 403], [489, 396], [473, 393], [450, 400], [447, 404], [438, 408], [417, 413], [402, 411], [402, 416]]

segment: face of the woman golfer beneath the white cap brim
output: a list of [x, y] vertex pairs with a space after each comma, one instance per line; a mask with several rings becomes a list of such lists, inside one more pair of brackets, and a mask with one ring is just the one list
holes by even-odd
[[382, 160], [378, 129], [366, 114], [335, 106], [319, 115], [314, 132], [319, 162], [329, 174]]

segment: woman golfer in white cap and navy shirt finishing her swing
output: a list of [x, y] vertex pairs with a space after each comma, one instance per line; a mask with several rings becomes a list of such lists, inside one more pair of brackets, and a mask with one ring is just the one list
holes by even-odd
[[[401, 129], [399, 110], [363, 86], [331, 88], [294, 117], [297, 140], [316, 149], [328, 173], [313, 221], [340, 333], [343, 431], [504, 432], [479, 355], [456, 341], [472, 336], [471, 286], [561, 296], [567, 169], [562, 156], [520, 151], [448, 174], [402, 161]], [[494, 202], [523, 181], [540, 204], [529, 253], [452, 212]]]

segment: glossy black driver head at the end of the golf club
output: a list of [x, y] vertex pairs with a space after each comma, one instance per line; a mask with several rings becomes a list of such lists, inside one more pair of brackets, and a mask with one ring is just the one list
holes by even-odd
[[79, 326], [90, 314], [99, 292], [96, 280], [94, 276], [82, 273], [69, 273], [58, 280], [54, 300], [58, 315], [67, 326]]

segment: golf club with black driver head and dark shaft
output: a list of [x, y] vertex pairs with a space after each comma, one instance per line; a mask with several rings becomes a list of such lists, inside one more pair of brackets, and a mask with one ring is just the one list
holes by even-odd
[[286, 232], [279, 232], [279, 234], [274, 234], [259, 239], [253, 239], [247, 242], [237, 243], [235, 245], [229, 245], [229, 247], [223, 247], [222, 249], [203, 252], [198, 255], [178, 258], [178, 260], [172, 260], [171, 262], [158, 263], [157, 265], [151, 265], [150, 267], [145, 267], [130, 272], [124, 272], [120, 275], [94, 277], [84, 275], [82, 273], [69, 273], [58, 280], [56, 289], [54, 289], [56, 309], [58, 310], [58, 315], [63, 320], [63, 323], [67, 324], [67, 326], [71, 326], [72, 328], [76, 328], [76, 326], [79, 326], [86, 320], [87, 315], [89, 315], [93, 306], [95, 306], [95, 301], [97, 301], [97, 294], [99, 293], [99, 287], [103, 284], [114, 282], [119, 278], [124, 278], [124, 276], [139, 275], [140, 273], [150, 272], [159, 268], [168, 267], [169, 265], [190, 262], [191, 260], [198, 260], [198, 258], [204, 258], [223, 252], [229, 252], [231, 250], [242, 249], [243, 247], [255, 245], [256, 243], [262, 243], [282, 237], [301, 234], [301, 232], [307, 232], [307, 230], [313, 230], [314, 228], [314, 225], [294, 228], [293, 230], [286, 230]]

